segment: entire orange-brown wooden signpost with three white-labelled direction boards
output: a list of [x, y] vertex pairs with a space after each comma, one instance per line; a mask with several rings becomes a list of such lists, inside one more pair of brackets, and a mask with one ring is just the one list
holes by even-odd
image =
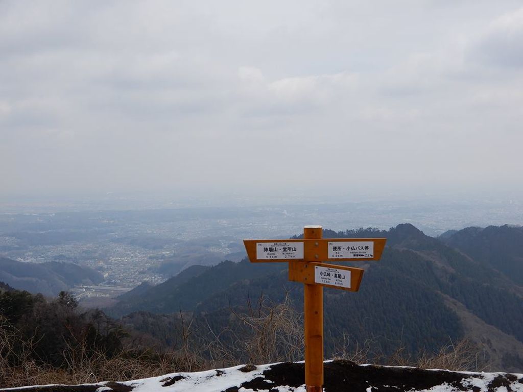
[[305, 226], [303, 239], [246, 239], [253, 263], [289, 262], [289, 280], [304, 283], [305, 385], [323, 386], [323, 286], [358, 291], [363, 269], [324, 261], [379, 260], [385, 238], [322, 238], [322, 226]]

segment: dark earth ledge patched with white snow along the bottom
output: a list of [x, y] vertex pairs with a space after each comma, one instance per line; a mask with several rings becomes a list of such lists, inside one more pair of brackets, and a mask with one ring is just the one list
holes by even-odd
[[[240, 365], [125, 382], [0, 389], [20, 392], [305, 392], [303, 362]], [[325, 362], [325, 392], [523, 392], [523, 374]]]

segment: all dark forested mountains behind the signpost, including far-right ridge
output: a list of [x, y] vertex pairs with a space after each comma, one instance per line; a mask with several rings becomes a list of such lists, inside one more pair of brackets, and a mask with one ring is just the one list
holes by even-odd
[[[467, 338], [481, 347], [489, 368], [523, 370], [523, 228], [466, 228], [433, 238], [402, 224], [388, 231], [324, 230], [323, 237], [388, 238], [381, 261], [352, 264], [366, 270], [359, 292], [324, 290], [327, 355], [347, 341], [390, 355]], [[303, 308], [302, 285], [288, 281], [283, 263], [193, 266], [137, 290], [109, 312], [191, 312], [223, 329], [231, 308], [245, 308], [261, 295], [280, 302], [288, 294], [298, 311]], [[132, 324], [132, 315], [126, 322]], [[135, 327], [146, 330], [145, 324]]]

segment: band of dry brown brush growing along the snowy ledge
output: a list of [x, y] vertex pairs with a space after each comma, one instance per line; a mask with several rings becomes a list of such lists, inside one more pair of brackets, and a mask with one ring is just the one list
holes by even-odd
[[[35, 358], [35, 338], [22, 340], [21, 333], [0, 316], [0, 385], [19, 387], [124, 381], [174, 372], [202, 371], [244, 361], [271, 363], [303, 359], [303, 317], [294, 310], [288, 295], [278, 304], [262, 296], [255, 307], [250, 302], [247, 305], [243, 313], [231, 309], [229, 328], [217, 333], [208, 327], [206, 336], [197, 333], [193, 319], [187, 321], [180, 313], [182, 341], [180, 348], [174, 351], [157, 352], [130, 343], [116, 355], [108, 356], [103, 350], [88, 347], [85, 340], [68, 341], [61, 367], [52, 367]], [[451, 342], [436, 353], [425, 351], [412, 356], [399, 349], [388, 357], [376, 352], [376, 340], [350, 344], [349, 337], [343, 335], [336, 344], [335, 358], [356, 363], [483, 370], [478, 361], [479, 351], [467, 340]]]

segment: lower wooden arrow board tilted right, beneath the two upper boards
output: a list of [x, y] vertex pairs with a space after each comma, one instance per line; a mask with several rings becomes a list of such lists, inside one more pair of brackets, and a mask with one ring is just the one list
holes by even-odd
[[358, 291], [363, 269], [335, 266], [326, 263], [289, 262], [289, 280], [306, 284], [319, 284], [348, 291]]

